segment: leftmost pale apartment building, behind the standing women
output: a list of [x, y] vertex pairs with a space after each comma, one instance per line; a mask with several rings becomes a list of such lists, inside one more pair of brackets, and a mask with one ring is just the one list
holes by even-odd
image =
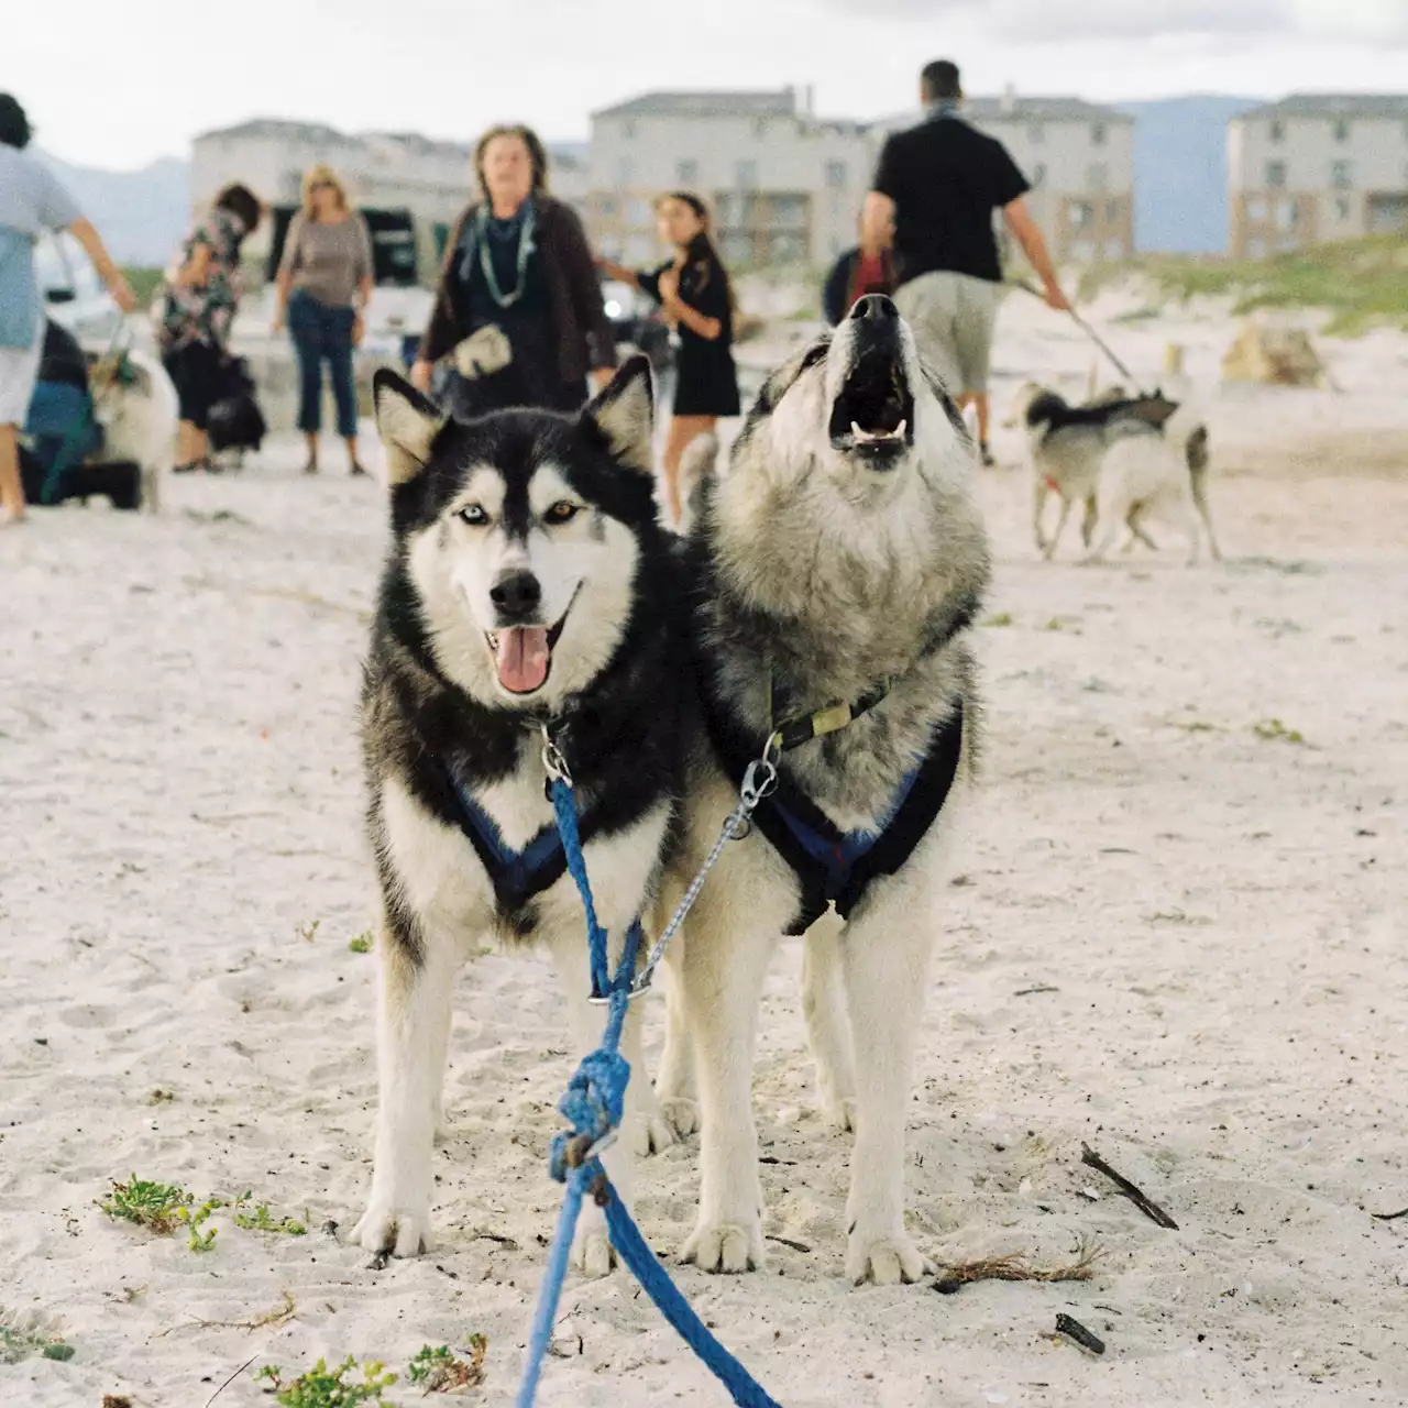
[[[428, 282], [439, 266], [449, 231], [469, 201], [474, 177], [473, 146], [436, 142], [415, 132], [339, 132], [315, 122], [255, 118], [204, 132], [191, 146], [190, 193], [203, 208], [232, 180], [242, 180], [272, 207], [246, 242], [245, 262], [268, 275], [289, 220], [298, 207], [303, 173], [325, 162], [346, 182], [367, 218], [377, 282]], [[555, 196], [586, 208], [586, 153], [577, 148], [549, 152]]]

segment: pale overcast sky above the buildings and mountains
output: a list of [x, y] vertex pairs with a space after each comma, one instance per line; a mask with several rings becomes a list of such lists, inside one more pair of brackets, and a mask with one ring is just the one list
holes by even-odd
[[[15, 0], [18, 4], [18, 0]], [[31, 0], [0, 89], [66, 161], [135, 168], [256, 115], [470, 139], [584, 138], [646, 89], [815, 86], [824, 115], [970, 93], [1095, 100], [1408, 87], [1408, 0]], [[213, 23], [214, 15], [222, 15]]]

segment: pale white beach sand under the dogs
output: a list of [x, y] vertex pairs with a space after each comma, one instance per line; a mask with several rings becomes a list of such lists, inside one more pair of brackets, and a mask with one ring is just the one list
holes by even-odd
[[[1079, 379], [1070, 334], [1010, 310], [1000, 370]], [[1202, 379], [1231, 334], [1112, 329], [1148, 367], [1188, 342]], [[1010, 624], [979, 636], [987, 797], [939, 941], [908, 1205], [939, 1262], [1105, 1256], [1088, 1284], [843, 1286], [848, 1149], [810, 1110], [788, 943], [758, 1115], [766, 1229], [808, 1250], [680, 1274], [787, 1408], [1408, 1400], [1408, 1219], [1369, 1217], [1408, 1205], [1408, 344], [1326, 346], [1343, 396], [1215, 401], [1222, 567], [1183, 570], [1167, 531], [1159, 558], [1081, 570], [1071, 542], [1042, 566], [1025, 474], [983, 476]], [[460, 981], [439, 1247], [373, 1271], [318, 1231], [352, 1225], [370, 1173], [372, 959], [348, 941], [370, 917], [353, 703], [383, 521], [375, 484], [296, 465], [283, 445], [173, 483], [159, 520], [0, 532], [0, 1314], [76, 1349], [0, 1367], [7, 1408], [199, 1405], [252, 1356], [404, 1370], [472, 1331], [472, 1398], [517, 1381], [570, 1069], [543, 962]], [[1271, 719], [1304, 745], [1259, 738]], [[1181, 1231], [1112, 1195], [1081, 1140]], [[217, 1214], [197, 1256], [97, 1211], [132, 1171], [252, 1187], [310, 1235]], [[694, 1200], [691, 1140], [642, 1174], [655, 1246]], [[286, 1291], [282, 1326], [194, 1324]], [[1048, 1338], [1057, 1311], [1104, 1359]], [[624, 1273], [569, 1286], [558, 1342], [543, 1404], [724, 1401]], [[218, 1401], [269, 1400], [242, 1374]]]

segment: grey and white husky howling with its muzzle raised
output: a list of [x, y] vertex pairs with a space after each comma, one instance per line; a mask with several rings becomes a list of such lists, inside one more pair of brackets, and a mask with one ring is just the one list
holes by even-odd
[[779, 936], [831, 904], [845, 929], [805, 939], [803, 1005], [821, 1105], [856, 1135], [846, 1271], [895, 1283], [924, 1269], [904, 1229], [904, 1124], [942, 859], [977, 750], [967, 634], [988, 548], [973, 463], [895, 306], [867, 296], [769, 379], [727, 472], [705, 484], [691, 551], [707, 725], [672, 890], [774, 729], [797, 743], [673, 955], [658, 1090], [676, 1124], [701, 1117], [698, 1224], [683, 1256], [707, 1270], [762, 1263], [759, 995]]

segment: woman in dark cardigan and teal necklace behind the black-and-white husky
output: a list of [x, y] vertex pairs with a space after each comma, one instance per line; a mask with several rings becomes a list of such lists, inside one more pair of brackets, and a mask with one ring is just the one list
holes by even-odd
[[429, 391], [448, 365], [460, 420], [535, 406], [573, 411], [615, 366], [582, 222], [548, 194], [548, 158], [525, 127], [497, 127], [474, 149], [483, 200], [459, 220], [411, 380]]

